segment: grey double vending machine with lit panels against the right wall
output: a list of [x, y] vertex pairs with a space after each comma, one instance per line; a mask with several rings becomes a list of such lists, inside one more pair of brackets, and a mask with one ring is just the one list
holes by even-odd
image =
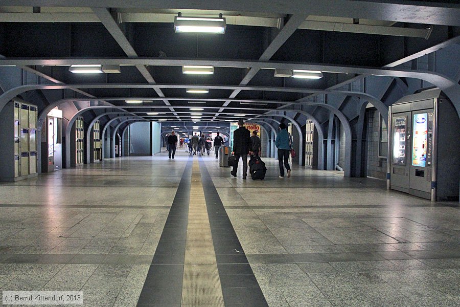
[[460, 120], [440, 90], [401, 98], [388, 112], [388, 188], [432, 201], [458, 200]]

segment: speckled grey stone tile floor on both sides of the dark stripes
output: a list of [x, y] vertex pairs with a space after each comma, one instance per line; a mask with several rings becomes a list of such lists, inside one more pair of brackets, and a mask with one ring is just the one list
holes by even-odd
[[[0, 290], [82, 290], [88, 306], [136, 306], [188, 158], [126, 157], [0, 184]], [[277, 161], [264, 161], [264, 181], [243, 181], [241, 169], [233, 178], [212, 156], [200, 164], [205, 197], [219, 196], [239, 240], [225, 244], [245, 253], [222, 252], [210, 215], [226, 305], [247, 305], [247, 258], [270, 307], [460, 306], [458, 203], [299, 166], [279, 179]]]

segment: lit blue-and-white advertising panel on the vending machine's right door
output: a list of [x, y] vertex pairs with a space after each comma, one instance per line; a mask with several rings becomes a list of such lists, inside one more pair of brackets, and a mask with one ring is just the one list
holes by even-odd
[[412, 165], [425, 167], [428, 136], [428, 114], [413, 115]]

